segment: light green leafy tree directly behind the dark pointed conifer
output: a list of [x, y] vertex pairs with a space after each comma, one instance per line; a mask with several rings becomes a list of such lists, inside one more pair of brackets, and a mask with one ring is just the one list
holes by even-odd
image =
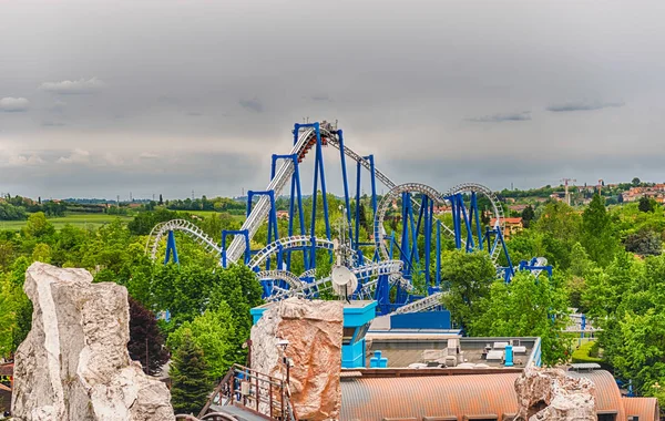
[[203, 349], [207, 378], [219, 379], [234, 362], [244, 362], [234, 337], [233, 311], [226, 302], [221, 302], [217, 309], [185, 321], [168, 336], [167, 345], [177, 353], [187, 342], [196, 343]]

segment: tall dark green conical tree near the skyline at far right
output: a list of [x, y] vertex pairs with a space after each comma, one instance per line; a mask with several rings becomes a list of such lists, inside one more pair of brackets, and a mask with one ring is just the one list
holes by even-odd
[[581, 243], [589, 257], [603, 267], [612, 263], [618, 249], [618, 239], [605, 209], [604, 198], [598, 194], [594, 194], [591, 204], [582, 214]]

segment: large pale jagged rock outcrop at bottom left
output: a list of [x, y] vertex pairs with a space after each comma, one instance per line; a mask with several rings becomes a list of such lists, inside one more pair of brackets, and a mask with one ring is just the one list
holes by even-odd
[[130, 360], [127, 291], [84, 269], [25, 273], [32, 329], [14, 359], [14, 420], [174, 420], [171, 393]]

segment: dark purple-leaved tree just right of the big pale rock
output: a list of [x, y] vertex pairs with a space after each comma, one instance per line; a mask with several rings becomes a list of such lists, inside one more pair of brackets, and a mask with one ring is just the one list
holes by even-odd
[[155, 315], [132, 297], [129, 297], [129, 301], [130, 342], [127, 343], [127, 350], [130, 357], [141, 362], [147, 374], [154, 376], [168, 361], [168, 352], [164, 348], [164, 338], [157, 328]]

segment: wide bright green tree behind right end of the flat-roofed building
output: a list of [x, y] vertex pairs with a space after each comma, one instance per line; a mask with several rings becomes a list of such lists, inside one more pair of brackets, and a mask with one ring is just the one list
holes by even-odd
[[542, 359], [553, 366], [565, 361], [571, 338], [562, 332], [569, 322], [567, 297], [561, 279], [538, 279], [528, 271], [510, 284], [498, 279], [479, 304], [471, 336], [535, 336], [542, 341]]

